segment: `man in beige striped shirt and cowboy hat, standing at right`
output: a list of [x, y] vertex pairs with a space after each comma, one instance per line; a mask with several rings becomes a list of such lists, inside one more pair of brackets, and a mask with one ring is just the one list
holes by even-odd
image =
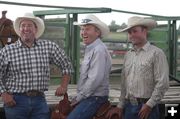
[[156, 26], [155, 20], [134, 16], [121, 31], [128, 32], [133, 48], [124, 58], [120, 102], [109, 115], [159, 119], [158, 102], [169, 87], [169, 67], [164, 52], [147, 38], [148, 31]]

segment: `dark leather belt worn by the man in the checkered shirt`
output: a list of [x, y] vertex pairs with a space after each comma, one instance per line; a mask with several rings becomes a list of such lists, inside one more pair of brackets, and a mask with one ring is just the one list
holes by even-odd
[[41, 91], [37, 91], [37, 90], [31, 90], [28, 92], [24, 92], [24, 93], [13, 93], [13, 94], [17, 94], [17, 95], [26, 95], [29, 97], [35, 97], [35, 96], [44, 96], [44, 92]]

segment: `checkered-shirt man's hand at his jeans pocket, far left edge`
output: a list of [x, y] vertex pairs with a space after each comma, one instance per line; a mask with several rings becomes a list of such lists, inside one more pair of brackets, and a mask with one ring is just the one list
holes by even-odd
[[7, 92], [2, 93], [2, 100], [4, 102], [5, 105], [7, 105], [8, 107], [13, 107], [16, 105], [15, 100], [13, 99], [13, 95], [9, 94]]

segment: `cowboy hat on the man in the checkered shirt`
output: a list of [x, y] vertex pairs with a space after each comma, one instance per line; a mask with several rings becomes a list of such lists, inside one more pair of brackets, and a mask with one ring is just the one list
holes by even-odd
[[39, 38], [44, 32], [45, 26], [43, 20], [39, 17], [35, 17], [33, 13], [25, 13], [23, 17], [16, 18], [16, 20], [14, 21], [14, 30], [16, 31], [16, 33], [20, 36], [19, 25], [24, 19], [32, 20], [36, 24], [37, 33], [35, 37]]

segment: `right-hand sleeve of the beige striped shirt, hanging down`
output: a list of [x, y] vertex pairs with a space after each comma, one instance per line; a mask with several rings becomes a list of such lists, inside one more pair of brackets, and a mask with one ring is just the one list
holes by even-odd
[[151, 98], [146, 103], [151, 108], [155, 106], [164, 96], [169, 88], [169, 67], [165, 54], [160, 51], [155, 54], [154, 59], [154, 81], [155, 87]]

